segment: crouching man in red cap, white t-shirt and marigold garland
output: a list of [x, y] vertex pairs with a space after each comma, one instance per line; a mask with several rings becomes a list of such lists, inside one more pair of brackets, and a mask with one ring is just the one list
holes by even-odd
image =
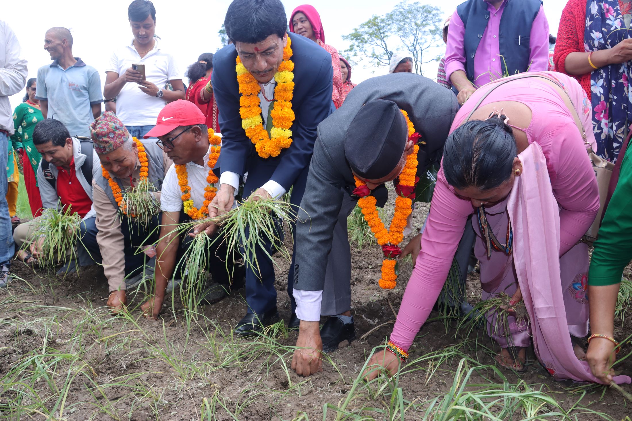
[[[190, 215], [194, 215], [196, 210], [202, 211], [202, 218], [209, 216], [208, 210], [203, 209], [204, 196], [205, 193], [214, 194], [217, 191], [215, 186], [219, 180], [212, 172], [214, 162], [211, 162], [212, 165], [209, 167], [209, 156], [214, 152], [212, 148], [217, 148], [219, 145], [214, 146], [210, 143], [205, 121], [206, 117], [197, 105], [193, 102], [178, 100], [167, 104], [161, 110], [156, 126], [145, 134], [145, 138], [157, 137], [158, 145], [166, 151], [167, 157], [174, 163], [162, 182], [162, 227], [161, 239], [156, 246], [155, 295], [141, 307], [145, 315], [152, 319], [158, 317], [165, 288], [173, 275], [176, 263], [184, 256], [193, 240], [186, 233], [182, 239], [179, 237], [173, 239], [169, 234], [176, 229], [178, 223], [190, 221]], [[216, 161], [213, 157], [211, 159]], [[181, 166], [185, 167], [184, 172]], [[181, 175], [178, 175], [178, 172], [181, 172]], [[207, 177], [212, 178], [209, 180]], [[182, 181], [186, 178], [187, 191], [180, 188], [179, 178], [182, 178]], [[212, 182], [209, 183], [209, 181]], [[183, 205], [185, 194], [190, 194], [195, 207], [188, 214], [185, 213], [185, 210], [188, 211], [188, 206], [185, 208]], [[188, 196], [185, 196], [185, 200], [188, 200]], [[180, 244], [181, 240], [182, 244]], [[222, 240], [217, 240], [207, 249], [205, 269], [212, 276], [213, 283], [202, 292], [203, 300], [206, 302], [221, 300], [230, 290], [241, 288], [245, 282], [245, 267], [234, 264], [234, 261], [240, 259], [241, 256], [235, 253], [226, 261], [224, 259], [226, 251], [226, 244]], [[179, 267], [182, 266], [182, 264], [179, 265]]]

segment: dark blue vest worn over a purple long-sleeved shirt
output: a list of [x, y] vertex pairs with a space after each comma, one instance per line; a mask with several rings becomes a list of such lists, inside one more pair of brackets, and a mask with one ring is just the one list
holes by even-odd
[[[456, 13], [465, 26], [465, 69], [472, 83], [475, 83], [474, 56], [489, 23], [488, 5], [485, 0], [468, 0], [456, 8]], [[529, 68], [531, 27], [540, 6], [540, 0], [506, 1], [498, 35], [501, 57], [495, 57], [501, 61], [503, 75], [523, 73]]]

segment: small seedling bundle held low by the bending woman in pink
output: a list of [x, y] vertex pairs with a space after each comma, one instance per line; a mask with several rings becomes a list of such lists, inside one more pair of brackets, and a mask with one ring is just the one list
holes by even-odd
[[458, 324], [456, 328], [457, 334], [465, 331], [465, 336], [469, 336], [472, 331], [478, 331], [480, 326], [489, 324], [490, 335], [502, 335], [507, 339], [507, 343], [511, 344], [509, 316], [514, 316], [516, 323], [526, 328], [529, 323], [529, 314], [523, 301], [514, 305], [509, 305], [509, 301], [511, 301], [509, 295], [499, 292], [487, 300], [477, 302], [474, 308]]

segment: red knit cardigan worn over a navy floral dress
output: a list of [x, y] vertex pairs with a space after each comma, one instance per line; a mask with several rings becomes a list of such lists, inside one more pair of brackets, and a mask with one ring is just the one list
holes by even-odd
[[[566, 56], [571, 54], [571, 52], [585, 52], [585, 29], [586, 0], [568, 0], [559, 20], [555, 52], [553, 54], [553, 62], [560, 73], [566, 73]], [[580, 83], [581, 87], [586, 91], [586, 95], [590, 98], [590, 73], [568, 75]]]

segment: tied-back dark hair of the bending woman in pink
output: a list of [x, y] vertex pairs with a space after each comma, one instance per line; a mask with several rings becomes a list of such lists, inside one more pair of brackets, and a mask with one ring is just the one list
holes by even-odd
[[447, 137], [441, 168], [450, 186], [485, 191], [509, 180], [518, 148], [506, 119], [468, 121]]

